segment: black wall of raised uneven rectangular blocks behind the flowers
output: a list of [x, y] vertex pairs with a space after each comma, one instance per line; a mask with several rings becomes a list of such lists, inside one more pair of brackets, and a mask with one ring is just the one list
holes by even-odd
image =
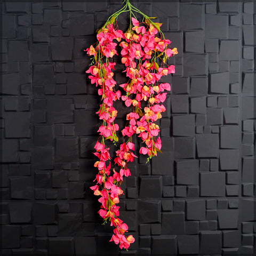
[[[99, 97], [83, 49], [122, 1], [17, 2], [2, 5], [2, 253], [114, 255], [89, 189]], [[179, 54], [163, 154], [139, 157], [122, 185], [136, 242], [120, 255], [253, 254], [255, 6], [198, 2], [133, 1]]]

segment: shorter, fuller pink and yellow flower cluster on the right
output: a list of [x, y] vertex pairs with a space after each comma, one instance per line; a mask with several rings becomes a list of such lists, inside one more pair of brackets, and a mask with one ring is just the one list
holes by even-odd
[[[161, 118], [161, 113], [166, 109], [162, 104], [166, 99], [166, 91], [171, 90], [169, 83], [160, 83], [162, 76], [175, 73], [175, 67], [159, 67], [156, 58], [166, 59], [177, 54], [177, 49], [170, 49], [167, 46], [171, 43], [168, 39], [157, 37], [157, 26], [151, 23], [141, 22], [132, 18], [132, 25], [124, 34], [125, 41], [120, 43], [122, 47], [122, 63], [126, 66], [126, 76], [129, 81], [119, 86], [123, 87], [126, 95], [122, 100], [127, 107], [133, 106], [135, 113], [131, 112], [126, 119], [129, 125], [122, 130], [123, 135], [131, 137], [139, 134], [146, 147], [141, 147], [139, 153], [148, 155], [148, 159], [161, 151], [161, 139], [158, 137], [159, 126], [155, 123]], [[151, 60], [151, 61], [150, 61]], [[141, 111], [141, 102], [145, 101], [148, 106]]]

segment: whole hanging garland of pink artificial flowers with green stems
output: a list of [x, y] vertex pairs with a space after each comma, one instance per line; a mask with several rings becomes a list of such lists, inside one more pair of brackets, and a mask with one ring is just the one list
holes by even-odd
[[[130, 12], [130, 26], [125, 33], [117, 27], [117, 17], [123, 12]], [[143, 17], [139, 22], [134, 13], [137, 12]], [[132, 17], [133, 16], [133, 17]], [[177, 54], [177, 49], [168, 47], [170, 40], [165, 39], [160, 27], [161, 23], [153, 22], [152, 17], [135, 8], [129, 0], [125, 0], [124, 7], [111, 15], [105, 25], [98, 30], [96, 46], [90, 46], [86, 51], [92, 56], [89, 73], [91, 83], [95, 84], [98, 94], [101, 96], [99, 119], [102, 124], [99, 127], [100, 138], [95, 144], [95, 156], [99, 158], [94, 163], [98, 168], [98, 174], [94, 181], [95, 186], [90, 187], [94, 195], [100, 196], [101, 209], [98, 211], [105, 224], [108, 220], [110, 226], [114, 226], [114, 234], [110, 241], [119, 244], [121, 249], [128, 249], [135, 241], [132, 235], [125, 236], [128, 226], [119, 219], [119, 196], [123, 194], [121, 184], [123, 177], [129, 177], [131, 172], [127, 167], [137, 157], [134, 154], [134, 143], [132, 135], [138, 134], [142, 143], [145, 143], [139, 153], [147, 155], [147, 162], [151, 157], [161, 152], [161, 139], [158, 137], [160, 131], [156, 121], [162, 117], [161, 113], [166, 109], [162, 104], [166, 99], [166, 92], [170, 91], [169, 83], [161, 83], [161, 77], [175, 72], [173, 65], [165, 65], [167, 59]], [[124, 72], [129, 78], [125, 84], [119, 85], [121, 91], [116, 90], [113, 70], [116, 63], [112, 61], [114, 55], [118, 55], [116, 46], [121, 46], [122, 63], [126, 69]], [[106, 140], [111, 140], [116, 145], [118, 137], [116, 132], [119, 127], [114, 123], [117, 110], [113, 103], [122, 99], [127, 107], [132, 110], [126, 115], [126, 126], [122, 130], [124, 142], [116, 151], [114, 164], [119, 170], [111, 170], [111, 157], [109, 148], [105, 145]], [[145, 107], [141, 106], [146, 104]]]

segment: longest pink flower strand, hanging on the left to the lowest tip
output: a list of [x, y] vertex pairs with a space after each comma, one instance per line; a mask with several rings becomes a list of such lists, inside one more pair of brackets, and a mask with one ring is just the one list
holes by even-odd
[[[109, 220], [110, 226], [115, 227], [114, 235], [110, 241], [119, 244], [121, 249], [127, 249], [135, 239], [132, 235], [127, 237], [124, 235], [128, 230], [128, 226], [118, 218], [119, 206], [116, 204], [119, 203], [119, 196], [123, 194], [123, 190], [119, 187], [119, 184], [121, 185], [122, 183], [121, 180], [123, 181], [123, 175], [126, 177], [131, 175], [129, 169], [126, 168], [126, 163], [133, 161], [135, 155], [129, 153], [129, 150], [126, 148], [127, 145], [124, 143], [124, 145], [120, 147], [120, 150], [118, 150], [118, 157], [115, 158], [115, 162], [118, 163], [119, 166], [122, 166], [123, 169], [119, 172], [113, 170], [114, 175], [110, 175], [111, 158], [109, 148], [105, 145], [105, 140], [107, 139], [114, 142], [118, 141], [116, 131], [119, 130], [119, 127], [114, 123], [117, 110], [113, 107], [113, 103], [119, 100], [121, 92], [119, 90], [115, 91], [116, 81], [113, 79], [114, 73], [112, 70], [116, 63], [110, 62], [109, 58], [117, 54], [117, 44], [114, 43], [113, 40], [121, 41], [121, 38], [124, 38], [123, 32], [114, 29], [113, 24], [109, 24], [106, 28], [102, 29], [102, 31], [99, 31], [97, 35], [97, 47], [94, 48], [91, 45], [90, 48], [85, 51], [88, 55], [93, 55], [96, 62], [86, 73], [91, 74], [89, 76], [91, 83], [95, 83], [96, 86], [99, 86], [98, 94], [101, 95], [102, 104], [97, 114], [99, 115], [99, 119], [103, 121], [98, 130], [102, 138], [101, 142], [97, 141], [94, 147], [96, 150], [94, 155], [99, 158], [99, 161], [94, 163], [94, 167], [97, 167], [99, 171], [95, 178], [97, 185], [90, 188], [94, 191], [94, 195], [100, 196], [98, 201], [101, 203], [101, 209], [98, 213], [105, 221], [104, 223]], [[106, 57], [106, 61], [103, 57]]]

